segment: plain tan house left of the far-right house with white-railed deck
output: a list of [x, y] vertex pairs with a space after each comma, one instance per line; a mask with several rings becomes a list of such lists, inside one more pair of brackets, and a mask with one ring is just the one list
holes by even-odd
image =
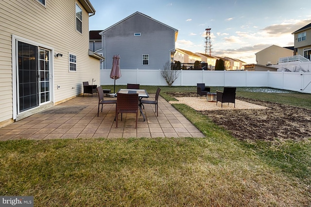
[[281, 57], [288, 57], [293, 55], [291, 47], [282, 48], [277, 45], [271, 45], [257, 53], [256, 62], [257, 65], [275, 65], [278, 64], [278, 60]]

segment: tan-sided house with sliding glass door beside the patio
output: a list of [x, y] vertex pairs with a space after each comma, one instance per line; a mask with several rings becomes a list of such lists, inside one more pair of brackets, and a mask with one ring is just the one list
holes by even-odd
[[100, 60], [89, 51], [89, 0], [0, 1], [0, 127], [100, 83]]

